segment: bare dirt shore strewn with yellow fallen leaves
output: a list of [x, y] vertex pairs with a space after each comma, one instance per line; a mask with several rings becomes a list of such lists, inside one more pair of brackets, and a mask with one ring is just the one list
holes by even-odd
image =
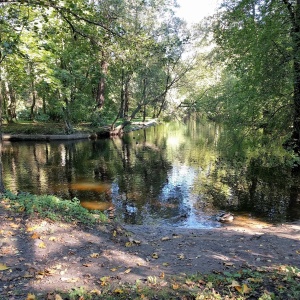
[[81, 228], [28, 221], [2, 207], [0, 226], [0, 299], [82, 286], [101, 289], [108, 279], [135, 282], [246, 265], [300, 268], [300, 223], [271, 226], [253, 221], [244, 227], [237, 219], [213, 230], [123, 228], [113, 223]]

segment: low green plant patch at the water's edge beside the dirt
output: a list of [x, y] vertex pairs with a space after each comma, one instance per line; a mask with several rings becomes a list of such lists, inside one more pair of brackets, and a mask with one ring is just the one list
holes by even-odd
[[32, 195], [29, 193], [13, 194], [7, 191], [2, 198], [10, 208], [24, 212], [28, 216], [48, 218], [53, 221], [81, 223], [92, 225], [106, 221], [107, 217], [100, 211], [91, 213], [80, 205], [78, 199], [63, 200], [53, 195]]

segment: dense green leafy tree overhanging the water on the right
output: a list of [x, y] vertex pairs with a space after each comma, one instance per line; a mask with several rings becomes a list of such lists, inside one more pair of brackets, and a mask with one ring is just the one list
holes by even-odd
[[299, 1], [228, 0], [213, 22], [217, 44], [213, 55], [223, 70], [215, 86], [222, 119], [254, 133], [264, 130], [273, 137], [292, 136], [296, 152], [298, 13]]

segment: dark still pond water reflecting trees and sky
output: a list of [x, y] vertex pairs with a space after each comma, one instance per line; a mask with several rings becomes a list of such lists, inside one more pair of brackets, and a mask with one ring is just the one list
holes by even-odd
[[300, 219], [300, 180], [283, 150], [250, 151], [230, 146], [233, 140], [217, 125], [191, 120], [123, 139], [4, 143], [4, 183], [13, 192], [114, 207], [115, 217], [131, 224], [212, 228], [220, 226], [220, 211], [268, 222]]

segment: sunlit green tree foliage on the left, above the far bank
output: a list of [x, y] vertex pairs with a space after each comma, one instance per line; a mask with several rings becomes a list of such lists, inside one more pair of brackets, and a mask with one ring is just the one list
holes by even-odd
[[22, 1], [0, 8], [0, 92], [8, 120], [25, 111], [26, 119], [41, 120], [42, 110], [43, 119], [70, 125], [94, 121], [100, 93], [101, 120], [114, 120], [124, 109], [125, 81], [128, 116], [141, 105], [151, 117], [157, 107], [167, 108], [187, 41], [173, 3], [63, 0], [53, 10], [49, 5], [54, 4]]

